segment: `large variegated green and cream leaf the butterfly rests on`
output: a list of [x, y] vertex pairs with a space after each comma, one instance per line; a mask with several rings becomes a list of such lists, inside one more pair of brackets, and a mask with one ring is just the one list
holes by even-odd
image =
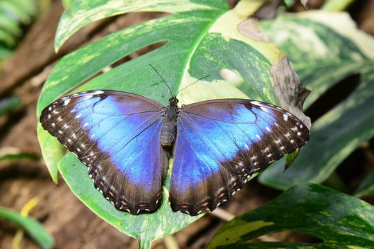
[[[78, 28], [96, 19], [139, 10], [170, 12], [171, 15], [120, 30], [62, 58], [42, 89], [37, 116], [47, 104], [62, 95], [93, 89], [127, 91], [168, 104], [171, 93], [148, 66], [152, 64], [174, 94], [200, 77], [210, 75], [181, 91], [178, 98], [182, 104], [212, 98], [254, 98], [282, 104], [308, 122], [300, 108], [308, 91], [300, 85], [287, 59], [274, 44], [251, 38], [258, 37], [253, 36], [256, 29], [248, 29], [249, 23], [243, 23], [264, 1], [241, 1], [234, 10], [229, 10], [224, 0], [73, 1], [69, 12], [60, 20], [57, 48]], [[249, 22], [256, 26], [256, 22]], [[89, 80], [135, 50], [159, 42], [166, 44]], [[220, 74], [223, 69], [235, 72], [241, 80], [226, 82]], [[287, 86], [292, 90], [279, 90]], [[299, 94], [301, 98], [295, 98]], [[71, 153], [64, 156], [65, 148], [40, 124], [38, 137], [53, 179], [57, 179], [59, 165], [75, 195], [118, 230], [136, 237], [141, 248], [149, 247], [153, 239], [176, 232], [199, 218], [171, 211], [167, 203], [170, 170], [157, 212], [132, 216], [115, 210], [94, 190], [87, 167]]]

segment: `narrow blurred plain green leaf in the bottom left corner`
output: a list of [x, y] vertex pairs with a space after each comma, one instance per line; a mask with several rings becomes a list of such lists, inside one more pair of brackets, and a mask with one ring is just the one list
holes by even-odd
[[45, 230], [42, 225], [40, 225], [40, 223], [35, 221], [34, 219], [21, 216], [21, 214], [18, 214], [17, 212], [1, 207], [0, 217], [17, 223], [17, 225], [28, 232], [30, 237], [32, 237], [41, 248], [55, 247], [55, 241], [51, 234], [49, 234], [49, 232]]

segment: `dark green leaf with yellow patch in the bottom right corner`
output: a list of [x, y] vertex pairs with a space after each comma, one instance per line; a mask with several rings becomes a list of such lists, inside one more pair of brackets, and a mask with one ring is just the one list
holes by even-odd
[[[321, 243], [253, 242], [287, 230], [312, 234]], [[374, 207], [316, 184], [290, 188], [217, 231], [208, 248], [373, 248]]]

